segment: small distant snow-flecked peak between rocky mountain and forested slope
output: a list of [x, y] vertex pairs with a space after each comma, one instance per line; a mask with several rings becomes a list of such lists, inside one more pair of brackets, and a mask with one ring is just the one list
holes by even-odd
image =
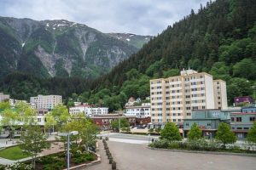
[[142, 48], [143, 45], [152, 38], [152, 36], [140, 36], [131, 33], [108, 33], [108, 35], [122, 40], [136, 48]]

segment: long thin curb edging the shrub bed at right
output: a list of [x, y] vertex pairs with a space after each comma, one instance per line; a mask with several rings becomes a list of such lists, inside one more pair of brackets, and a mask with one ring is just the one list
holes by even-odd
[[148, 147], [149, 150], [162, 150], [162, 151], [172, 151], [172, 152], [183, 152], [183, 153], [196, 153], [196, 154], [213, 154], [213, 155], [225, 155], [225, 156], [250, 156], [256, 157], [256, 154], [243, 154], [243, 153], [231, 153], [231, 152], [217, 152], [217, 151], [196, 151], [196, 150], [168, 150], [161, 148]]

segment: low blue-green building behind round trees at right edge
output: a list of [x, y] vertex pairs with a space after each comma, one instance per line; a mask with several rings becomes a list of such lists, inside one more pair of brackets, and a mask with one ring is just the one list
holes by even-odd
[[226, 122], [230, 125], [231, 131], [236, 133], [238, 139], [244, 139], [255, 121], [256, 107], [254, 105], [223, 111], [192, 111], [192, 117], [183, 121], [183, 135], [186, 137], [193, 123], [196, 123], [201, 127], [204, 136], [212, 138], [218, 130], [219, 122]]

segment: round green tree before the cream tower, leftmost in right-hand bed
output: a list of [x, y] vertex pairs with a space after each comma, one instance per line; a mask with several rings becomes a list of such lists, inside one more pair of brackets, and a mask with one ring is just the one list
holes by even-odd
[[160, 139], [167, 139], [172, 142], [181, 140], [182, 136], [175, 123], [167, 122], [165, 127], [160, 131]]

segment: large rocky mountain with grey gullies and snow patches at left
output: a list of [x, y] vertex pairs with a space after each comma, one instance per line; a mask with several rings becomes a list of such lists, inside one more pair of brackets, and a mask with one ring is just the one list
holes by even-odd
[[0, 17], [0, 77], [98, 77], [136, 53], [143, 41], [134, 42], [67, 20]]

